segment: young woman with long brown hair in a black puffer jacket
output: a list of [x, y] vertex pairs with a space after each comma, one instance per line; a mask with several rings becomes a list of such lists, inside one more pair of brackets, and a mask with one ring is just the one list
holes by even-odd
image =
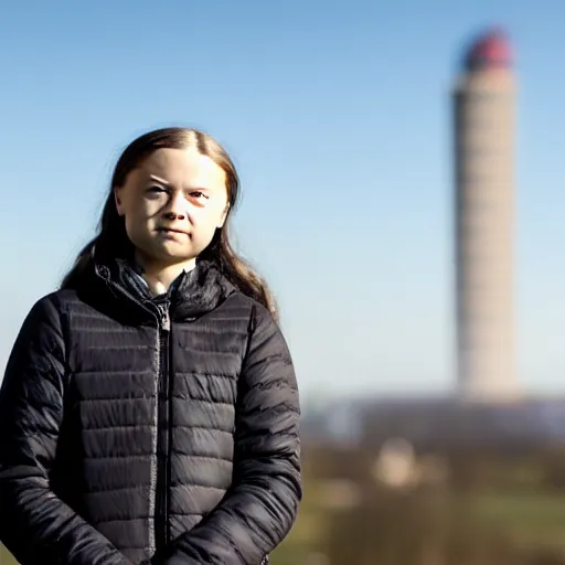
[[230, 245], [238, 186], [198, 130], [136, 139], [25, 319], [0, 393], [0, 541], [22, 565], [258, 565], [289, 532], [297, 384]]

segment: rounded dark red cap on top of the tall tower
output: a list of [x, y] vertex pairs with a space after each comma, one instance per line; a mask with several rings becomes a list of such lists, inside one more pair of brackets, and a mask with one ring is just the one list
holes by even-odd
[[468, 72], [512, 66], [512, 47], [507, 33], [500, 28], [487, 30], [477, 36], [465, 54]]

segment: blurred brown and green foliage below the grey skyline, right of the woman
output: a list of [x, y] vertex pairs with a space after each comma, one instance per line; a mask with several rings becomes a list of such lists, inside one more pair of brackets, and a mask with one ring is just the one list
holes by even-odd
[[[565, 565], [565, 449], [415, 454], [414, 467], [430, 456], [441, 479], [401, 488], [377, 480], [376, 452], [305, 447], [305, 501], [273, 565]], [[358, 491], [343, 508], [322, 488], [337, 480]]]

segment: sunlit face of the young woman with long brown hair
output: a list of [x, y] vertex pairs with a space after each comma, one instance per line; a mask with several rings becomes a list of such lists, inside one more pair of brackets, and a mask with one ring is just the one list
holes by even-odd
[[192, 263], [222, 227], [226, 174], [195, 149], [158, 149], [115, 188], [118, 214], [143, 262]]

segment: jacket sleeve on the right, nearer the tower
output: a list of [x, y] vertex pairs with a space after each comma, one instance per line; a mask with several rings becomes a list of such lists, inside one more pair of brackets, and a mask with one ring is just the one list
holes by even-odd
[[168, 565], [259, 565], [292, 526], [302, 497], [299, 401], [287, 344], [257, 307], [239, 376], [234, 484], [172, 544]]

